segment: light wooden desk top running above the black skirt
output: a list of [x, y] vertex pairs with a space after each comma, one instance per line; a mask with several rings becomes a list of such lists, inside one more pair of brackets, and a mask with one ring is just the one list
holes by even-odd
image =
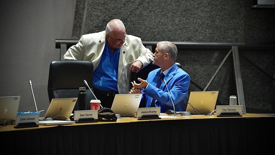
[[[121, 118], [117, 119], [116, 122], [97, 122], [97, 123], [75, 123], [75, 124], [68, 124], [68, 125], [60, 125], [60, 126], [78, 126], [78, 125], [102, 125], [102, 124], [111, 124], [111, 123], [133, 123], [133, 122], [141, 122], [141, 121], [163, 121], [163, 120], [182, 120], [182, 119], [233, 119], [233, 118], [260, 118], [260, 117], [275, 117], [271, 115], [259, 115], [259, 114], [248, 114], [243, 113], [242, 117], [217, 117], [217, 115], [191, 115], [191, 116], [169, 116], [165, 113], [160, 114], [161, 119], [151, 119], [151, 120], [138, 120], [137, 118]], [[0, 132], [3, 131], [18, 131], [18, 130], [35, 130], [35, 129], [44, 129], [50, 127], [57, 127], [58, 125], [39, 125], [39, 127], [32, 127], [32, 128], [14, 128], [15, 125], [7, 125], [5, 127], [0, 127]]]

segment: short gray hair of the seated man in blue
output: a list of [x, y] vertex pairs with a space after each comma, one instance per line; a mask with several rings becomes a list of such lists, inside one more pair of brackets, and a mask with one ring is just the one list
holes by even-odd
[[170, 55], [171, 61], [176, 62], [178, 49], [174, 43], [170, 41], [161, 41], [158, 42], [157, 46], [159, 46], [162, 54], [168, 53]]

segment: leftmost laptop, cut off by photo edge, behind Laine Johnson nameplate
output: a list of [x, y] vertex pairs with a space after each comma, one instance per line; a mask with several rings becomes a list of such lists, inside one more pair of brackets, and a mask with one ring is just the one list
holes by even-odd
[[19, 101], [20, 96], [0, 97], [0, 124], [4, 124], [5, 120], [15, 121]]

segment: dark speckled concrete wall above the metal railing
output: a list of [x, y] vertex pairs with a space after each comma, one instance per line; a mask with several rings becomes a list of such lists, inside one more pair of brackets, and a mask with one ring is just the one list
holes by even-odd
[[252, 5], [251, 0], [78, 0], [72, 37], [105, 30], [110, 19], [119, 18], [127, 34], [143, 41], [275, 42], [274, 9]]

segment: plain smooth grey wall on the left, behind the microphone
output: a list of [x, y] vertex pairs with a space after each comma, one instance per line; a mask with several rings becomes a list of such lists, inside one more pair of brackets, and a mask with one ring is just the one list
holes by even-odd
[[60, 59], [55, 39], [71, 38], [75, 4], [75, 0], [1, 2], [0, 96], [21, 96], [18, 111], [36, 111], [29, 80], [38, 110], [47, 111], [49, 66]]

